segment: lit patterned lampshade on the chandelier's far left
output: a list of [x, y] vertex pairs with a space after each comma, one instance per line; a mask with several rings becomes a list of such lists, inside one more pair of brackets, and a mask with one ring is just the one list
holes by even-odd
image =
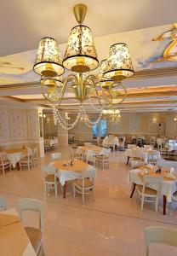
[[41, 39], [33, 69], [45, 77], [56, 77], [64, 73], [59, 47], [54, 38]]

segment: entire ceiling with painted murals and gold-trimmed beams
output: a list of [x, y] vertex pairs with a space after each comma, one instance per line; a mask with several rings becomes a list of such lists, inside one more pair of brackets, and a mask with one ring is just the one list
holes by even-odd
[[[71, 27], [72, 0], [1, 0], [0, 16], [0, 105], [9, 108], [49, 108], [41, 94], [39, 77], [32, 71], [40, 38], [50, 36], [66, 49]], [[85, 25], [91, 27], [99, 59], [106, 58], [109, 46], [126, 42], [135, 75], [123, 81], [128, 96], [116, 108], [124, 112], [177, 111], [177, 58], [165, 59], [168, 45], [177, 49], [176, 0], [83, 1], [88, 5]], [[111, 4], [110, 4], [111, 3]], [[168, 11], [164, 15], [164, 10]], [[95, 22], [96, 21], [96, 22]], [[161, 38], [174, 32], [174, 38]], [[159, 39], [160, 37], [160, 39]], [[4, 63], [9, 63], [8, 65]], [[68, 101], [69, 98], [69, 101]], [[89, 112], [90, 103], [85, 102]], [[77, 111], [79, 102], [66, 92], [60, 106]]]

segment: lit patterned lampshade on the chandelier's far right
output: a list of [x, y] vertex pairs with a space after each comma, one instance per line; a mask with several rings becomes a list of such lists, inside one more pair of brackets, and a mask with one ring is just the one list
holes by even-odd
[[111, 45], [104, 77], [106, 79], [121, 81], [132, 75], [134, 75], [134, 67], [127, 44], [119, 43]]

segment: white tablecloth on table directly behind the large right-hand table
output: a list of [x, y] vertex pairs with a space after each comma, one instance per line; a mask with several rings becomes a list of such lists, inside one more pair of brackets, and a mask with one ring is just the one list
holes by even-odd
[[[149, 152], [147, 152], [147, 151], [149, 151]], [[140, 149], [129, 148], [125, 151], [125, 155], [128, 157], [138, 157], [141, 160], [144, 160], [144, 163], [147, 164], [148, 154], [150, 152], [151, 152], [151, 150], [147, 150], [144, 148], [140, 148]], [[160, 159], [160, 158], [161, 158], [161, 154], [159, 151], [157, 151], [157, 159]]]

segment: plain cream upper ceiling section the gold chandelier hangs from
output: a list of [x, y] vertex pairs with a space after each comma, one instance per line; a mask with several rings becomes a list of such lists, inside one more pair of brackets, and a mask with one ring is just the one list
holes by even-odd
[[[66, 43], [71, 27], [76, 25], [72, 14], [76, 3], [76, 0], [1, 0], [0, 56], [37, 49], [44, 36], [56, 38], [59, 44]], [[176, 0], [83, 0], [82, 3], [88, 5], [84, 23], [92, 28], [94, 37], [176, 21]]]

